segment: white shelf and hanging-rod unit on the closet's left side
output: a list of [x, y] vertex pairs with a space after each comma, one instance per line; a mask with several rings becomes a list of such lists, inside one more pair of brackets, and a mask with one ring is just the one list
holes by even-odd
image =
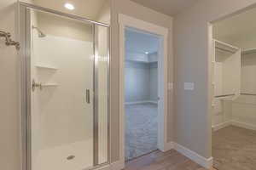
[[[212, 88], [214, 99], [236, 99], [240, 95], [240, 80], [236, 77], [241, 73], [241, 49], [218, 40], [213, 40], [213, 44]], [[233, 74], [234, 69], [237, 72]], [[233, 84], [236, 85], [233, 86]], [[212, 106], [215, 106], [214, 102]]]

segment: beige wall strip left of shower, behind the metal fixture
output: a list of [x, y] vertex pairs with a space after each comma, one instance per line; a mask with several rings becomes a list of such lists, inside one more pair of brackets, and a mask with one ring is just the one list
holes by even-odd
[[[15, 37], [15, 3], [0, 1], [0, 30]], [[0, 169], [20, 170], [19, 58], [14, 47], [0, 41]]]

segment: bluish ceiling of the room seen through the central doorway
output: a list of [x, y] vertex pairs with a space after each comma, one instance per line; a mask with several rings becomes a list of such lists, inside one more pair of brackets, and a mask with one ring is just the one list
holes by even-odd
[[126, 52], [133, 54], [149, 54], [158, 51], [159, 38], [154, 35], [131, 31], [127, 29], [125, 31], [125, 48]]

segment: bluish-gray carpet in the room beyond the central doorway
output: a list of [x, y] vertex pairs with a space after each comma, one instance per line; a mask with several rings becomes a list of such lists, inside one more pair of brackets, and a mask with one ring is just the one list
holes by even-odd
[[157, 105], [125, 105], [125, 160], [157, 150]]

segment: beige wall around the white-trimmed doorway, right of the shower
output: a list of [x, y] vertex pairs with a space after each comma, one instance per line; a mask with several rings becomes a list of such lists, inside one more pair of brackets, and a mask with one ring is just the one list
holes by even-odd
[[[168, 38], [168, 82], [173, 82], [173, 56], [172, 56], [172, 17], [160, 14], [152, 9], [145, 8], [129, 0], [111, 0], [111, 161], [119, 160], [119, 23], [118, 14], [126, 14], [138, 20], [145, 20], [158, 26], [169, 29]], [[168, 92], [168, 120], [167, 120], [167, 137], [168, 142], [172, 141], [173, 126], [173, 99], [172, 90]]]

